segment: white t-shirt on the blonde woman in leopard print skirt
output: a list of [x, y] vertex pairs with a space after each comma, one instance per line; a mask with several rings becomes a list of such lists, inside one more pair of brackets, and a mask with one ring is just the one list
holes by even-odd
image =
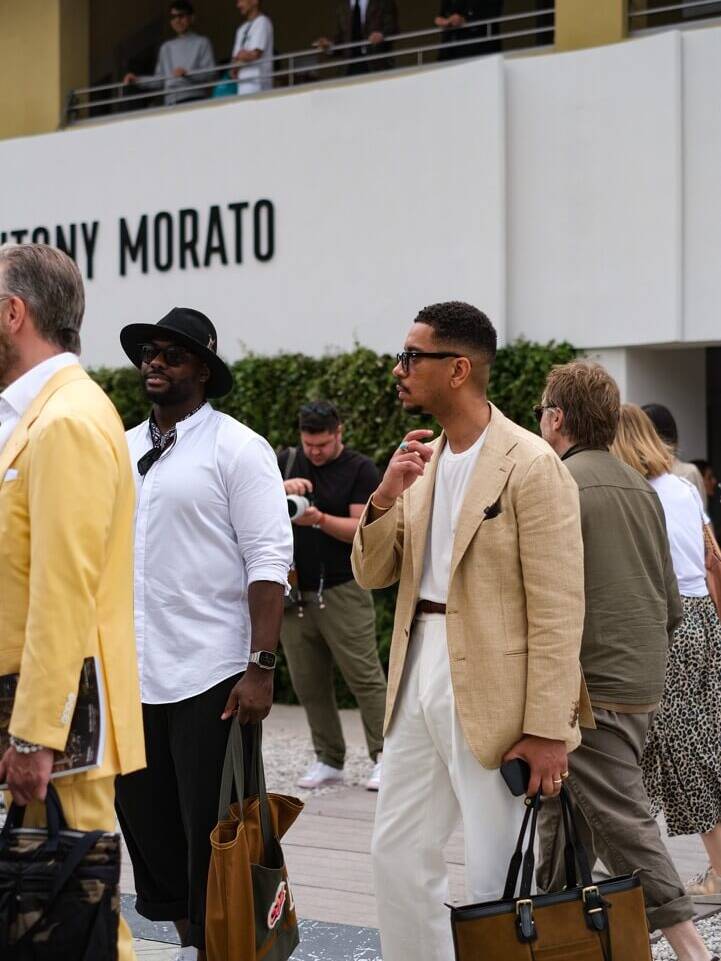
[[671, 560], [682, 597], [706, 597], [703, 525], [708, 518], [699, 492], [682, 477], [661, 474], [649, 480], [666, 515]]

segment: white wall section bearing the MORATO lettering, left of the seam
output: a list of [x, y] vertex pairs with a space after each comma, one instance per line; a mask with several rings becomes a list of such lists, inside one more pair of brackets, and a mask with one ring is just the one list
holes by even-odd
[[[500, 58], [233, 100], [0, 144], [0, 230], [101, 221], [90, 363], [121, 360], [120, 327], [176, 304], [208, 313], [231, 357], [399, 349], [419, 308], [450, 297], [503, 332], [502, 144]], [[121, 216], [134, 230], [197, 208], [202, 233], [209, 205], [260, 198], [275, 204], [271, 261], [119, 275]]]

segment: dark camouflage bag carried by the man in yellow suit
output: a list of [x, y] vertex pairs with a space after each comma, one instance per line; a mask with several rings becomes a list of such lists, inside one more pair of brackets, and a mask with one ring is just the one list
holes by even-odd
[[116, 961], [120, 838], [70, 830], [52, 784], [47, 828], [13, 804], [0, 832], [2, 961]]

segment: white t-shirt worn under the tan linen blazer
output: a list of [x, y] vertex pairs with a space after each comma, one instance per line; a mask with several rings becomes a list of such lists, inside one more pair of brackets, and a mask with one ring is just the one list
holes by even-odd
[[488, 428], [483, 431], [472, 447], [460, 454], [454, 454], [446, 441], [446, 446], [438, 459], [436, 484], [433, 491], [433, 513], [428, 527], [426, 556], [423, 561], [420, 586], [420, 597], [424, 601], [445, 604], [448, 599], [448, 581], [451, 574], [451, 556], [458, 515], [487, 431]]

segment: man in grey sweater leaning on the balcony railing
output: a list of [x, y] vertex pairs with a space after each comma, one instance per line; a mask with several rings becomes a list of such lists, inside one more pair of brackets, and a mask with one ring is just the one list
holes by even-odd
[[[152, 77], [139, 77], [134, 73], [126, 73], [123, 83], [126, 86], [163, 88], [166, 105], [210, 96], [210, 86], [204, 87], [202, 84], [208, 84], [213, 79], [215, 55], [210, 40], [192, 29], [194, 20], [195, 10], [187, 0], [171, 3], [170, 26], [176, 35], [172, 40], [166, 40], [160, 48], [155, 74]], [[207, 72], [196, 73], [198, 70]]]

